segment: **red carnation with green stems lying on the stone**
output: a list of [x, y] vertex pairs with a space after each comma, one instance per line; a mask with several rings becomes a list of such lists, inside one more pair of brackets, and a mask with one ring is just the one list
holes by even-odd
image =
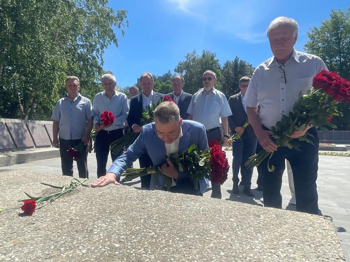
[[43, 185], [47, 185], [49, 187], [52, 188], [57, 188], [60, 189], [60, 191], [54, 193], [54, 194], [50, 194], [50, 195], [46, 195], [46, 196], [42, 196], [42, 197], [33, 197], [30, 196], [29, 194], [27, 194], [25, 192], [25, 194], [29, 197], [29, 199], [24, 199], [24, 200], [20, 200], [21, 202], [23, 202], [23, 205], [18, 205], [18, 206], [14, 206], [11, 208], [5, 208], [5, 209], [0, 209], [0, 214], [3, 211], [11, 211], [11, 210], [15, 210], [18, 208], [21, 208], [24, 212], [24, 214], [33, 214], [35, 209], [38, 206], [44, 205], [44, 204], [48, 204], [51, 203], [52, 201], [54, 201], [55, 199], [57, 199], [58, 197], [76, 189], [79, 185], [82, 185], [83, 187], [90, 187], [90, 185], [84, 184], [84, 182], [87, 180], [84, 179], [83, 181], [79, 181], [78, 179], [74, 178], [71, 182], [69, 186], [62, 186], [62, 187], [57, 187], [56, 185], [50, 185], [50, 184], [45, 184], [45, 183], [40, 183]]

